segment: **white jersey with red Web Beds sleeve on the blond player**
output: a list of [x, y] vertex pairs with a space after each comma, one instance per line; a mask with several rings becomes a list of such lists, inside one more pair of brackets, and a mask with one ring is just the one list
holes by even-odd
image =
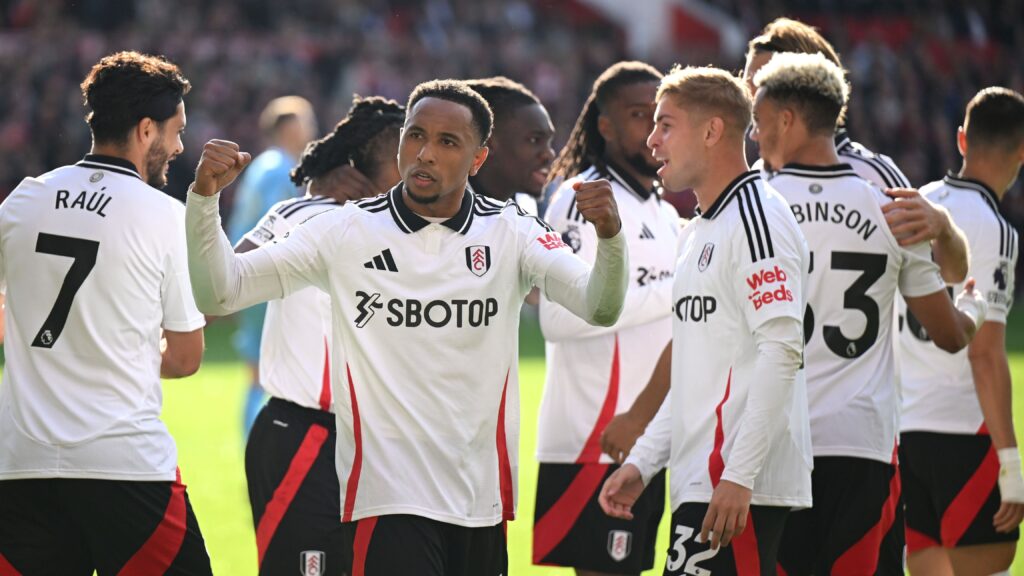
[[[785, 200], [756, 171], [731, 182], [683, 229], [673, 289], [670, 492], [673, 507], [709, 502], [729, 464], [748, 394], [758, 385], [754, 331], [803, 320], [807, 245]], [[811, 504], [804, 371], [755, 479], [752, 503]]]

